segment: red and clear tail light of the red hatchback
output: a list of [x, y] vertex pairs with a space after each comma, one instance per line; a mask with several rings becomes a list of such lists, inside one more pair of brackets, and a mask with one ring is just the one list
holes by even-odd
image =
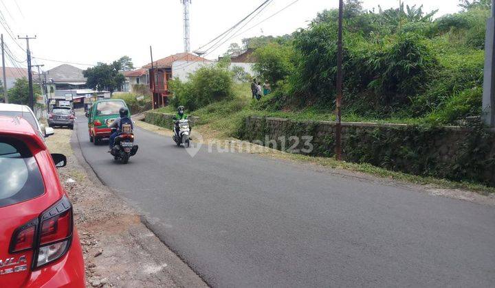
[[14, 231], [9, 252], [34, 249], [33, 269], [60, 259], [69, 250], [74, 230], [72, 205], [66, 196]]

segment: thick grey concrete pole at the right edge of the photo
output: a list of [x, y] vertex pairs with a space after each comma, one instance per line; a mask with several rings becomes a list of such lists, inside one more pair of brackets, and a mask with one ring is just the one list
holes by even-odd
[[495, 127], [495, 0], [492, 0], [492, 16], [487, 20], [486, 28], [481, 117], [485, 125]]

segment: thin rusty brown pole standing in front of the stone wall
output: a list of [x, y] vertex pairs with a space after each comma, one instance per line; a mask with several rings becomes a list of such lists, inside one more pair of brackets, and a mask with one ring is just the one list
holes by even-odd
[[337, 97], [336, 97], [336, 158], [342, 160], [342, 12], [344, 0], [339, 0], [338, 40], [337, 40]]

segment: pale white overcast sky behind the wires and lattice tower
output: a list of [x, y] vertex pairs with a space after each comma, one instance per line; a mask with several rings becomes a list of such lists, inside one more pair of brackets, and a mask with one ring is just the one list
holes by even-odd
[[[294, 0], [273, 0], [244, 29], [278, 12]], [[243, 19], [262, 0], [192, 0], [190, 6], [191, 49], [205, 45], [234, 23]], [[364, 8], [397, 7], [398, 0], [364, 0]], [[426, 11], [438, 9], [437, 16], [458, 12], [457, 0], [405, 0], [423, 5]], [[317, 12], [338, 7], [338, 0], [300, 0], [261, 25], [228, 40], [206, 58], [223, 54], [232, 42], [261, 35], [283, 35], [305, 27]], [[180, 0], [0, 0], [0, 11], [14, 35], [30, 36], [33, 56], [94, 64], [130, 56], [136, 67], [150, 62], [149, 46], [157, 60], [184, 51], [183, 14]], [[4, 39], [19, 60], [25, 60], [21, 48], [13, 43], [4, 27]], [[243, 30], [244, 30], [243, 29]], [[241, 30], [240, 32], [242, 32]], [[25, 40], [17, 40], [25, 47]], [[57, 62], [36, 60], [44, 70]], [[12, 66], [12, 65], [8, 65]], [[25, 63], [21, 64], [25, 67]], [[74, 65], [85, 68], [84, 65]]]

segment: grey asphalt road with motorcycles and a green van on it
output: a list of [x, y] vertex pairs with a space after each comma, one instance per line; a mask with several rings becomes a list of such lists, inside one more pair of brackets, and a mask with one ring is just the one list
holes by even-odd
[[121, 165], [86, 121], [89, 165], [213, 287], [495, 287], [493, 207], [204, 146], [191, 158], [140, 128]]

